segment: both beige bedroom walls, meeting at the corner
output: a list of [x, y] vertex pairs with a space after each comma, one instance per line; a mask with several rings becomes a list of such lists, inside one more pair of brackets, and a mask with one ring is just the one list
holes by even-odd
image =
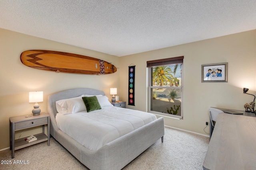
[[[29, 49], [46, 49], [87, 55], [113, 63], [118, 71], [108, 75], [55, 73], [25, 66], [20, 53]], [[103, 90], [109, 99], [110, 87], [118, 88], [120, 100], [128, 100], [128, 66], [136, 65], [135, 106], [130, 109], [147, 111], [146, 61], [184, 56], [183, 112], [184, 120], [165, 118], [165, 124], [196, 133], [204, 132], [209, 121], [209, 107], [243, 110], [253, 97], [243, 94], [256, 91], [256, 30], [227, 35], [214, 39], [148, 51], [124, 57], [116, 57], [74, 47], [38, 37], [0, 29], [0, 149], [9, 147], [9, 117], [31, 112], [28, 92], [44, 91], [44, 102], [39, 103], [47, 111], [47, 96], [70, 88], [88, 87]], [[228, 62], [227, 83], [202, 83], [201, 65]], [[40, 128], [32, 130], [41, 131]], [[209, 132], [209, 128], [206, 128]], [[18, 137], [22, 132], [16, 133]], [[30, 134], [24, 131], [21, 137]]]

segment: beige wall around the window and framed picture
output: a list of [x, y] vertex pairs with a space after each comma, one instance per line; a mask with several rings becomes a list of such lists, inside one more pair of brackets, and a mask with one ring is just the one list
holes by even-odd
[[[256, 91], [256, 30], [207, 39], [194, 43], [168, 47], [120, 57], [120, 98], [128, 101], [128, 66], [136, 65], [135, 106], [131, 109], [147, 110], [146, 61], [184, 56], [183, 115], [184, 120], [164, 117], [165, 125], [203, 135], [209, 122], [209, 107], [244, 109], [253, 96], [243, 94]], [[228, 63], [228, 82], [201, 82], [201, 65]], [[209, 132], [207, 127], [206, 132]]]

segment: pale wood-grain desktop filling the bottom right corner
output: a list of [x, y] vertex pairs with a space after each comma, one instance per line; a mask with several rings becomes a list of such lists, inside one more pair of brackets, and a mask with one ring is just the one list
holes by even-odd
[[220, 113], [203, 169], [255, 170], [256, 117]]

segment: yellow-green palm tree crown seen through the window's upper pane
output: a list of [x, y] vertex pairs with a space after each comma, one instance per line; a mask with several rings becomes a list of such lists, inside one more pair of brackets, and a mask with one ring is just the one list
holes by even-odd
[[172, 70], [168, 66], [157, 66], [153, 68], [153, 82], [156, 82], [157, 86], [163, 86], [164, 82], [170, 82], [173, 78]]

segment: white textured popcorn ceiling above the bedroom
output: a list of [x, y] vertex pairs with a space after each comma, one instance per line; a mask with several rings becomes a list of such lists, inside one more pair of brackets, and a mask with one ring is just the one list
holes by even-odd
[[256, 29], [256, 0], [0, 0], [0, 28], [124, 56]]

